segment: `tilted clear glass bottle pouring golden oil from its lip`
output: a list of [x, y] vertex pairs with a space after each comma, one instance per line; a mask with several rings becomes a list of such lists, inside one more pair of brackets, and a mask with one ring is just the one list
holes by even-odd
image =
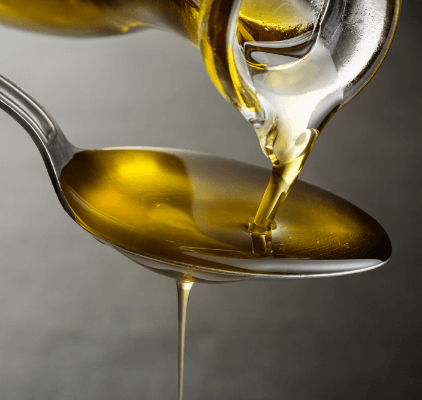
[[[211, 80], [254, 126], [264, 154], [274, 165], [286, 165], [309, 152], [315, 132], [372, 78], [391, 44], [400, 5], [401, 0], [0, 0], [0, 22], [70, 36], [151, 27], [182, 36], [201, 49]], [[314, 64], [333, 74], [311, 73]], [[283, 86], [275, 100], [268, 96], [274, 71]], [[300, 103], [301, 117], [290, 123], [286, 107], [294, 102], [286, 93], [292, 87], [296, 97], [320, 93], [323, 85], [327, 93], [308, 96], [309, 104]], [[302, 164], [290, 168], [290, 180]]]

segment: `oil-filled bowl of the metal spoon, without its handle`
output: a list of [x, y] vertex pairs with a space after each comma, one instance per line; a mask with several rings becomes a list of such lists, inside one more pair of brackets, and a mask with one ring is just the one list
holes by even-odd
[[390, 258], [390, 240], [372, 217], [300, 181], [271, 235], [261, 235], [271, 251], [255, 251], [248, 223], [270, 176], [204, 153], [128, 147], [75, 154], [60, 185], [81, 227], [177, 279], [186, 272], [195, 281], [323, 277]]

